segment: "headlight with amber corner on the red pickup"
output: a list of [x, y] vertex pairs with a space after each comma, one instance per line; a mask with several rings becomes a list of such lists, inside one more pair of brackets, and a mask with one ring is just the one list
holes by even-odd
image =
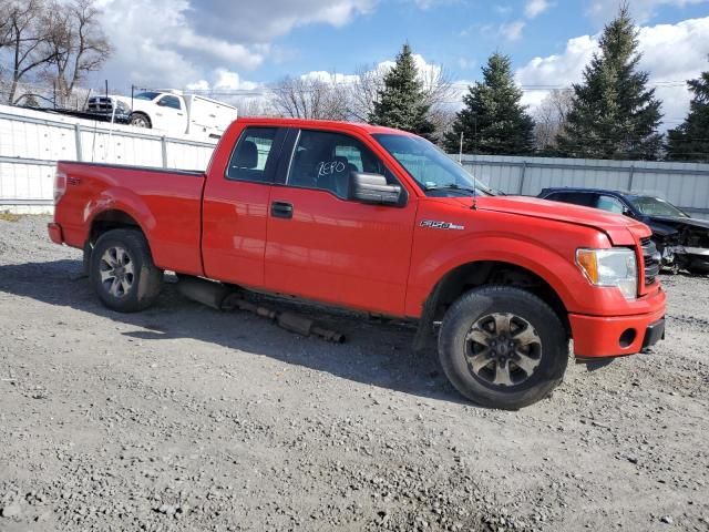
[[577, 249], [576, 264], [594, 285], [615, 286], [620, 289], [626, 299], [636, 298], [638, 266], [634, 249], [626, 247]]

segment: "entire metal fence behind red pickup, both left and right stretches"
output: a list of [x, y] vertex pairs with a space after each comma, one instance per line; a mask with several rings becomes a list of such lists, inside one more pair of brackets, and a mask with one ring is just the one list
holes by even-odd
[[[205, 170], [215, 144], [0, 105], [0, 209], [51, 211], [58, 160]], [[536, 195], [548, 186], [621, 190], [709, 217], [709, 164], [492, 155], [463, 155], [462, 162], [507, 194]]]

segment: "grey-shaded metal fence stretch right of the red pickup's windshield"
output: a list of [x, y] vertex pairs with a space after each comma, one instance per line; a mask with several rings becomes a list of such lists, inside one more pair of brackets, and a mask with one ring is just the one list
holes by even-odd
[[497, 155], [463, 155], [462, 163], [506, 194], [533, 196], [549, 186], [610, 188], [660, 196], [693, 216], [709, 217], [709, 164]]

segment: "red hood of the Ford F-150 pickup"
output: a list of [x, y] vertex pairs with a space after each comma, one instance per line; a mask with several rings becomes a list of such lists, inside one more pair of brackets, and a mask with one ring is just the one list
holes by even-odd
[[[472, 197], [451, 198], [471, 207]], [[567, 224], [584, 225], [598, 229], [610, 238], [614, 245], [635, 245], [636, 238], [645, 238], [653, 233], [650, 228], [621, 214], [607, 213], [598, 208], [582, 207], [568, 203], [549, 202], [527, 196], [477, 196], [476, 207], [499, 213], [554, 219]]]

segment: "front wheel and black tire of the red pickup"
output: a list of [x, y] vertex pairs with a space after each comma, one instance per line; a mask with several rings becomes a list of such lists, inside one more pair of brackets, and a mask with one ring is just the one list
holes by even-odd
[[[504, 341], [485, 336], [486, 344], [495, 341], [497, 346], [485, 348], [475, 338], [481, 332], [496, 335], [497, 316], [506, 317], [501, 319], [507, 319], [510, 332], [502, 335]], [[491, 325], [489, 330], [481, 329]], [[526, 344], [520, 347], [522, 331]], [[524, 360], [521, 351], [527, 354]], [[487, 357], [490, 361], [481, 368]], [[568, 362], [568, 338], [556, 313], [538, 297], [520, 288], [484, 286], [461, 296], [445, 314], [439, 332], [439, 358], [451, 383], [467, 399], [483, 407], [516, 410], [544, 399], [562, 381]], [[523, 362], [536, 366], [527, 375]], [[506, 374], [506, 385], [492, 381], [499, 380], [499, 365], [501, 377]]]

